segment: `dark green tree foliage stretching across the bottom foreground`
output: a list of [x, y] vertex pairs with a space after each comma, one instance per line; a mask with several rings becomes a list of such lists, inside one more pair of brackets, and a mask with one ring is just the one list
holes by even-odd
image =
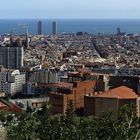
[[124, 106], [120, 117], [111, 113], [101, 118], [78, 117], [69, 103], [66, 115], [50, 116], [50, 106], [20, 115], [16, 123], [7, 127], [8, 140], [139, 140], [140, 122], [136, 108]]

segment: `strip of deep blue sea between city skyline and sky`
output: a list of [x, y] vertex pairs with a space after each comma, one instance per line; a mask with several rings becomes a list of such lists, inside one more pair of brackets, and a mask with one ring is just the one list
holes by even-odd
[[[51, 34], [51, 19], [42, 19], [43, 34]], [[115, 34], [119, 27], [122, 32], [140, 33], [140, 20], [130, 19], [56, 19], [57, 31], [61, 33], [88, 32], [91, 34]], [[37, 34], [38, 19], [0, 19], [0, 34], [9, 34], [11, 30], [15, 34], [24, 34], [25, 26], [29, 29], [29, 34]]]

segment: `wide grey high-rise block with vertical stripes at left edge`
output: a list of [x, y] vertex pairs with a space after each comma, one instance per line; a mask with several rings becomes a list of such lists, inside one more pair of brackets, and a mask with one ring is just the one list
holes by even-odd
[[23, 47], [0, 47], [0, 65], [5, 68], [22, 67], [23, 57]]

